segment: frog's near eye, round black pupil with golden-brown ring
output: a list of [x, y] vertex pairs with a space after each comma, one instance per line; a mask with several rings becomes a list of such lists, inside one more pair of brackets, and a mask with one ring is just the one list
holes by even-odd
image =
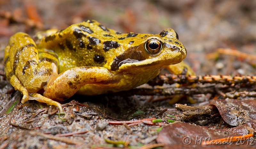
[[157, 53], [162, 49], [162, 43], [157, 39], [149, 39], [146, 44], [145, 48], [150, 53]]

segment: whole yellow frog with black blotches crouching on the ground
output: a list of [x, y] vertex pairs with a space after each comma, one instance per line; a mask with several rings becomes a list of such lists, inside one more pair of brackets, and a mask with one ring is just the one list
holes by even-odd
[[[23, 97], [57, 106], [75, 93], [94, 96], [130, 90], [177, 70], [187, 49], [172, 28], [159, 34], [120, 33], [95, 20], [66, 29], [18, 32], [4, 52], [7, 80]], [[178, 67], [175, 68], [175, 64]]]

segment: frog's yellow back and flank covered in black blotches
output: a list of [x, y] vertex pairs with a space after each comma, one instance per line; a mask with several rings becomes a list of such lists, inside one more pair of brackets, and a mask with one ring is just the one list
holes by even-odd
[[146, 34], [121, 34], [97, 21], [88, 20], [41, 37], [36, 43], [41, 51], [51, 49], [57, 54], [59, 72], [63, 72], [77, 66], [103, 67], [146, 37]]

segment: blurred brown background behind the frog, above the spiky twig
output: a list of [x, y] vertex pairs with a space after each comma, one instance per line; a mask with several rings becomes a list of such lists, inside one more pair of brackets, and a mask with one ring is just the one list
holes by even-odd
[[0, 59], [16, 32], [34, 35], [88, 19], [119, 32], [158, 34], [171, 27], [196, 74], [255, 75], [255, 0], [1, 0]]

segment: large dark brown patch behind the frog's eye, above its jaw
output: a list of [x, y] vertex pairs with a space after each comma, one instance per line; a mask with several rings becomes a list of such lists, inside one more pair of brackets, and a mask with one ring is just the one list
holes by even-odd
[[[138, 50], [138, 49], [142, 49], [142, 50]], [[133, 62], [138, 62], [138, 61], [148, 59], [149, 56], [145, 52], [146, 51], [144, 50], [144, 48], [141, 48], [140, 46], [130, 47], [123, 54], [115, 57], [115, 59], [113, 60], [113, 63], [110, 66], [111, 70], [116, 71], [119, 69], [119, 67], [122, 64], [125, 64], [125, 63], [133, 63]]]

